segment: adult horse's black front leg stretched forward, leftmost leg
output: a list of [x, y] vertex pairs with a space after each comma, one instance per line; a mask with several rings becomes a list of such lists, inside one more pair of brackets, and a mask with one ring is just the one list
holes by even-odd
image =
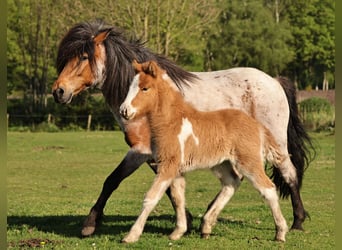
[[91, 208], [88, 217], [83, 223], [82, 236], [90, 236], [94, 233], [99, 223], [103, 209], [112, 192], [118, 188], [120, 183], [135, 170], [146, 162], [151, 155], [141, 154], [136, 150], [129, 150], [119, 166], [107, 177], [95, 205]]

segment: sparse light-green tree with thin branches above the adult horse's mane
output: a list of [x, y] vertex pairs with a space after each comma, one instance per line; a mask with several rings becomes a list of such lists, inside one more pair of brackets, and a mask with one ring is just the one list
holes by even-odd
[[[132, 31], [148, 47], [189, 70], [203, 70], [204, 31], [216, 22], [222, 0], [98, 1], [110, 22]], [[106, 16], [97, 11], [98, 15]]]

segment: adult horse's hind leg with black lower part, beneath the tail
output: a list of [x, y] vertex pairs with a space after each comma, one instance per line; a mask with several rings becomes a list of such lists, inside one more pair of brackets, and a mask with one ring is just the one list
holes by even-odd
[[306, 211], [299, 192], [299, 184], [297, 178], [296, 168], [292, 164], [290, 157], [277, 166], [285, 182], [289, 185], [291, 202], [293, 207], [293, 224], [291, 229], [303, 230], [302, 224], [306, 218]]

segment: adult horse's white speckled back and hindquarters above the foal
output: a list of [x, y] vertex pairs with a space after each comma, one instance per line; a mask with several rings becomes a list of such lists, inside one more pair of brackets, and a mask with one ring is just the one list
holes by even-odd
[[252, 116], [274, 135], [287, 141], [289, 106], [280, 83], [255, 68], [231, 68], [196, 72], [199, 80], [184, 88], [187, 101], [202, 111], [239, 109]]

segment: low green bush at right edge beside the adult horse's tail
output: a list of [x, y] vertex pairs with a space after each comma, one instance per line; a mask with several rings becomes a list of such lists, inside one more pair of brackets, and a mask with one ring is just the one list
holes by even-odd
[[299, 104], [304, 126], [313, 131], [335, 128], [335, 107], [326, 99], [312, 97]]

